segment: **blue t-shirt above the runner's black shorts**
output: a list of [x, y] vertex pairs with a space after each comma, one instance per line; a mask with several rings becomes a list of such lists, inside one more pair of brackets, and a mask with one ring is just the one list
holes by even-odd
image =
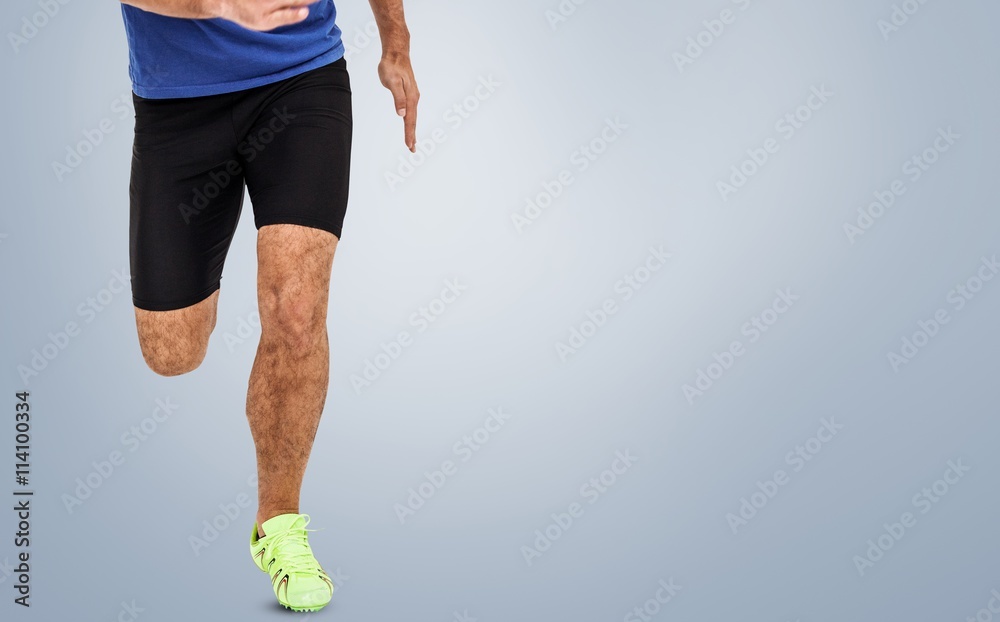
[[129, 77], [139, 97], [231, 93], [270, 84], [344, 55], [333, 0], [309, 7], [305, 21], [257, 32], [224, 19], [180, 19], [122, 4]]

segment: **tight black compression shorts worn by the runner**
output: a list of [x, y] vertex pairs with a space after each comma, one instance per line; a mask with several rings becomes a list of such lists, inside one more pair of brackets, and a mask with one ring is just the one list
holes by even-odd
[[345, 59], [235, 93], [132, 99], [135, 306], [180, 309], [219, 289], [245, 187], [257, 229], [297, 224], [340, 238], [353, 130]]

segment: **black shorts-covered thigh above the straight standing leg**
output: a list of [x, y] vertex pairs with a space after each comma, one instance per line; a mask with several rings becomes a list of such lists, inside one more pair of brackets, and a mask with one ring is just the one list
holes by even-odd
[[245, 119], [240, 154], [257, 229], [295, 224], [339, 239], [353, 131], [346, 61], [261, 90], [238, 118]]

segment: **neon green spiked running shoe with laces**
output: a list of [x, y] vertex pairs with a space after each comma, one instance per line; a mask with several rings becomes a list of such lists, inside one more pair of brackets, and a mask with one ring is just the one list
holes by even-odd
[[307, 514], [281, 514], [264, 521], [264, 537], [254, 523], [250, 555], [271, 576], [278, 602], [292, 611], [319, 611], [333, 597], [333, 581], [313, 557]]

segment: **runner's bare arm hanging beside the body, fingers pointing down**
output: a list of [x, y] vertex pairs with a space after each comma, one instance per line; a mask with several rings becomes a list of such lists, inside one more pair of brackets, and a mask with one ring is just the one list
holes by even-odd
[[396, 114], [403, 117], [406, 146], [417, 150], [417, 101], [420, 91], [410, 65], [410, 31], [403, 17], [403, 0], [368, 0], [382, 40], [378, 77], [392, 92]]

